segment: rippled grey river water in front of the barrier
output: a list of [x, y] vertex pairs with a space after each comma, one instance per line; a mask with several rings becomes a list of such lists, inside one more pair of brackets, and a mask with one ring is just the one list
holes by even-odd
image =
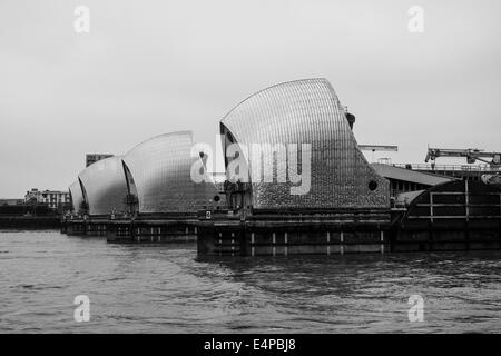
[[[77, 295], [89, 323], [73, 320]], [[220, 260], [195, 244], [0, 231], [0, 332], [500, 333], [501, 251]]]

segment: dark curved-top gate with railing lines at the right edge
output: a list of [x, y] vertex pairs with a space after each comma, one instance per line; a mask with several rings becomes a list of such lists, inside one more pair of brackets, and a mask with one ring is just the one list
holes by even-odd
[[394, 224], [395, 251], [501, 248], [501, 190], [477, 181], [435, 186]]

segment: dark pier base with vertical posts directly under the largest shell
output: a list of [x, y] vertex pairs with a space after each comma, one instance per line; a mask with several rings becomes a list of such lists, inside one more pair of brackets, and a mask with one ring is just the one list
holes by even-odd
[[390, 210], [353, 214], [261, 215], [200, 221], [198, 254], [288, 256], [385, 253]]

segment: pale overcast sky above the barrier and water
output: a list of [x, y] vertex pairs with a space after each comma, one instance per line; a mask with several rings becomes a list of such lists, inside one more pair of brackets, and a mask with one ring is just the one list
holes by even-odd
[[331, 81], [358, 144], [397, 145], [381, 152], [393, 162], [424, 162], [428, 145], [500, 151], [500, 13], [497, 0], [0, 0], [0, 198], [66, 190], [86, 154], [160, 134], [215, 145], [239, 101], [305, 78]]

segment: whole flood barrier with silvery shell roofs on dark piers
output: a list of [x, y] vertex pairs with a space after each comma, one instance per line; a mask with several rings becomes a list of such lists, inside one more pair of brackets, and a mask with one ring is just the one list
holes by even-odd
[[326, 79], [269, 87], [220, 120], [223, 180], [191, 131], [160, 135], [81, 171], [61, 230], [196, 240], [200, 256], [501, 249], [495, 159], [462, 170], [370, 164], [354, 125]]

